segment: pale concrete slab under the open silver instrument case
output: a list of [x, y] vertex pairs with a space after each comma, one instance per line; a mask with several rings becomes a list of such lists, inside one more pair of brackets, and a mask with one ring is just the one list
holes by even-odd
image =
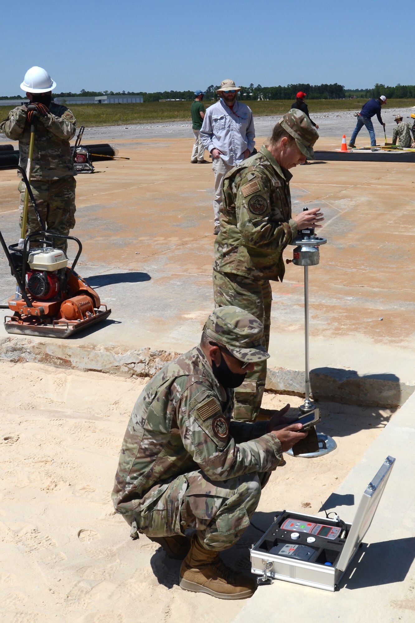
[[[414, 415], [415, 396], [412, 396], [324, 503], [327, 510], [335, 508], [343, 520], [353, 521], [366, 485], [388, 455], [396, 458], [373, 523], [363, 540], [365, 546], [358, 550], [343, 576], [340, 591], [332, 593], [275, 581], [272, 586], [260, 587], [255, 592], [234, 623], [269, 620], [271, 612], [278, 612], [282, 621], [308, 623], [414, 620], [415, 507], [414, 486], [408, 478], [413, 473]], [[252, 521], [255, 523], [255, 515]]]

